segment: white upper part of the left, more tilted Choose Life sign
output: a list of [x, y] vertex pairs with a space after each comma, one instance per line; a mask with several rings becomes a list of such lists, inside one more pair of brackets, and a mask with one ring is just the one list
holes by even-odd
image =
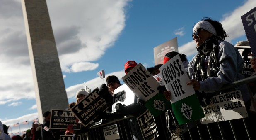
[[141, 63], [130, 70], [122, 79], [133, 93], [144, 101], [155, 96], [158, 93], [157, 87], [160, 86]]

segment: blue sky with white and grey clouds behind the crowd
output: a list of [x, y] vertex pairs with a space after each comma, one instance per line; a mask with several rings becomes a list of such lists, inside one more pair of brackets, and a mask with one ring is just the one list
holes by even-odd
[[[121, 79], [128, 60], [154, 66], [153, 48], [175, 37], [190, 61], [193, 26], [203, 17], [220, 21], [233, 45], [246, 40], [240, 17], [256, 6], [255, 0], [46, 1], [69, 103], [84, 82], [91, 89], [103, 84], [100, 70]], [[13, 125], [37, 117], [36, 100], [21, 0], [1, 0], [0, 13], [0, 121]]]

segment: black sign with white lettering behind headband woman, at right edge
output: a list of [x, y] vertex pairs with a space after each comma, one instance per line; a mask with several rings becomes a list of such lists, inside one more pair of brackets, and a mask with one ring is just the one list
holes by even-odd
[[248, 54], [251, 54], [251, 47], [250, 46], [235, 46], [239, 53], [241, 54], [242, 58], [244, 59], [244, 68], [242, 71], [242, 75], [244, 75], [246, 78], [253, 75], [254, 69], [251, 67], [250, 59], [251, 56], [248, 56]]

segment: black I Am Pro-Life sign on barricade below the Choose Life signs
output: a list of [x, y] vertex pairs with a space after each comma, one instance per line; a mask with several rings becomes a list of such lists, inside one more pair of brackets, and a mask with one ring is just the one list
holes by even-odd
[[140, 130], [143, 135], [144, 140], [155, 140], [158, 137], [157, 126], [155, 124], [155, 119], [149, 110], [145, 111], [137, 120], [140, 125]]

